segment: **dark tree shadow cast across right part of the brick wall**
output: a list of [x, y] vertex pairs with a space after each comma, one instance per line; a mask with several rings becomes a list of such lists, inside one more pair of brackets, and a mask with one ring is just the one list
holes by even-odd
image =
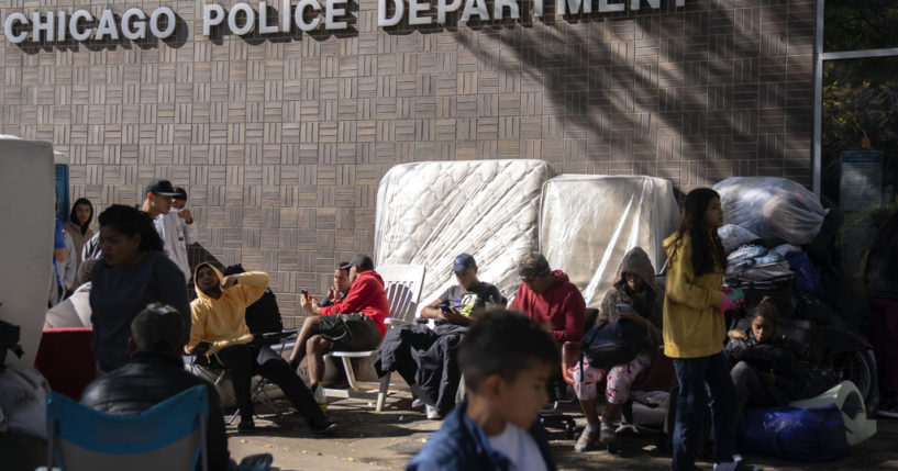
[[[736, 22], [732, 9], [687, 12], [673, 4], [645, 13], [565, 15], [565, 21], [553, 21], [555, 15], [546, 8], [546, 21], [522, 22], [519, 27], [485, 23], [475, 26], [479, 37], [465, 29], [453, 34], [481, 69], [486, 65], [488, 70], [542, 85], [550, 106], [561, 111], [552, 114], [564, 132], [554, 137], [569, 137], [572, 132], [576, 136], [584, 130], [598, 146], [608, 146], [607, 153], [587, 148], [587, 161], [624, 160], [614, 156], [632, 156], [636, 145], [643, 146], [640, 154], [652, 155], [646, 160], [655, 161], [781, 161], [785, 153], [777, 148], [781, 141], [758, 135], [784, 128], [810, 133], [812, 111], [808, 109], [807, 120], [777, 121], [774, 115], [765, 122], [760, 116], [762, 108], [786, 108], [786, 32], [763, 36], [760, 23]], [[532, 1], [521, 3], [522, 10], [530, 5]], [[631, 32], [620, 23], [628, 19], [633, 22]], [[501, 47], [485, 47], [485, 38]], [[761, 57], [776, 47], [783, 53]], [[652, 48], [657, 49], [655, 59]], [[762, 68], [783, 72], [765, 77]], [[762, 90], [762, 80], [783, 83]], [[812, 88], [810, 77], [807, 85]], [[770, 128], [764, 130], [765, 123]], [[662, 155], [659, 128], [675, 131], [681, 139], [669, 155]], [[809, 158], [801, 155], [796, 161]]]

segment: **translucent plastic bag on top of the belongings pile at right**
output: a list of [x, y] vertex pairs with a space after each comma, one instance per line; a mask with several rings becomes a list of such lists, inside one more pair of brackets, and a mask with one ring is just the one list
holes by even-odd
[[723, 220], [763, 238], [808, 244], [820, 232], [828, 210], [807, 188], [776, 177], [733, 177], [713, 187]]

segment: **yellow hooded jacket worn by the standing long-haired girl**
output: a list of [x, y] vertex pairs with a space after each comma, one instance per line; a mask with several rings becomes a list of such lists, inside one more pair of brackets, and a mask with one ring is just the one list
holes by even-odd
[[670, 263], [664, 296], [664, 355], [670, 358], [708, 357], [723, 350], [727, 335], [720, 304], [723, 272], [698, 277], [692, 272], [692, 239], [676, 234], [664, 240]]

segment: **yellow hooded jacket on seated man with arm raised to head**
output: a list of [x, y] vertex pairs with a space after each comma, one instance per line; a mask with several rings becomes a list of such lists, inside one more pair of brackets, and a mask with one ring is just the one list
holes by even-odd
[[[200, 263], [193, 269], [193, 280], [201, 267], [211, 267], [219, 277], [221, 271], [209, 263]], [[192, 325], [190, 326], [190, 341], [185, 350], [193, 351], [201, 341], [212, 344], [215, 351], [236, 344], [248, 344], [253, 340], [250, 327], [246, 326], [246, 307], [258, 301], [268, 287], [267, 273], [250, 271], [234, 274], [237, 284], [222, 291], [218, 300], [209, 298], [199, 285], [196, 287], [197, 299], [190, 303]]]

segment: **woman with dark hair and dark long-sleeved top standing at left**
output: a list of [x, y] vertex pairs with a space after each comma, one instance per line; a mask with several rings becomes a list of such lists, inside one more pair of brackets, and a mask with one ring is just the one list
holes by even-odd
[[101, 374], [128, 362], [131, 321], [147, 304], [160, 302], [178, 310], [186, 333], [190, 332], [190, 309], [184, 274], [162, 253], [163, 242], [149, 215], [113, 204], [98, 220], [102, 262], [90, 276], [90, 321]]

